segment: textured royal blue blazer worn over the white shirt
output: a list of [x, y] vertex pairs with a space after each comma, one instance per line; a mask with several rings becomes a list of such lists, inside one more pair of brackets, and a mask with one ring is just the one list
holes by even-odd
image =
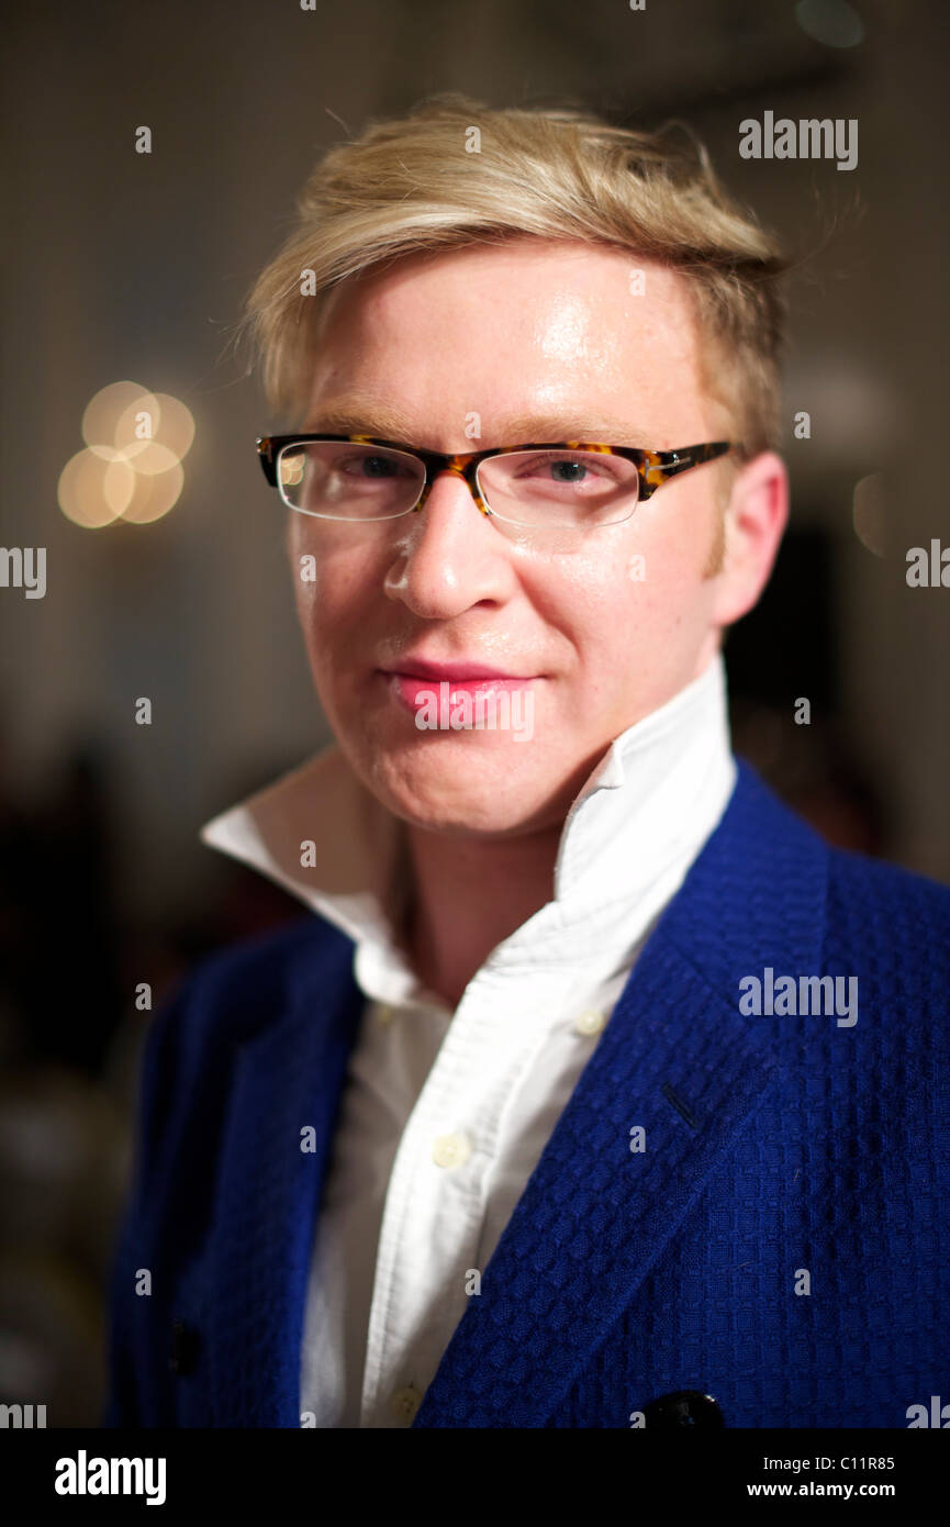
[[[741, 1012], [765, 968], [857, 977], [857, 1023]], [[412, 1425], [649, 1428], [696, 1391], [725, 1426], [904, 1428], [950, 1400], [948, 993], [950, 890], [829, 849], [741, 762]], [[153, 1019], [105, 1425], [301, 1425], [362, 1006], [309, 913]]]

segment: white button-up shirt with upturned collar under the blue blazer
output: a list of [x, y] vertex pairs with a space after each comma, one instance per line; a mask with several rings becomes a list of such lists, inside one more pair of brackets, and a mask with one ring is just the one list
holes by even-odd
[[301, 1411], [316, 1426], [411, 1423], [735, 780], [716, 655], [611, 744], [565, 818], [554, 899], [492, 950], [454, 1012], [420, 988], [396, 944], [405, 826], [339, 748], [202, 829], [353, 938], [368, 999], [307, 1293]]

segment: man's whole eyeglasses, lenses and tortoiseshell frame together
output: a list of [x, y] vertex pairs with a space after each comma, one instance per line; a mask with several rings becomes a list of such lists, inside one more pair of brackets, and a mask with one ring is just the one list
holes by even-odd
[[422, 508], [441, 472], [461, 476], [483, 515], [533, 528], [619, 525], [669, 478], [725, 455], [718, 440], [680, 450], [557, 444], [496, 446], [461, 455], [370, 435], [264, 435], [264, 476], [298, 515], [399, 519]]

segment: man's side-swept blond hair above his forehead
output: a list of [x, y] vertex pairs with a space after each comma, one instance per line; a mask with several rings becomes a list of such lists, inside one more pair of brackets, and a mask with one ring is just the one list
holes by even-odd
[[339, 281], [422, 250], [533, 235], [678, 270], [703, 336], [703, 383], [738, 455], [773, 449], [787, 261], [724, 192], [706, 148], [687, 130], [670, 142], [677, 127], [634, 131], [574, 108], [492, 110], [452, 92], [331, 148], [237, 330], [252, 337], [272, 406], [302, 412], [322, 298]]

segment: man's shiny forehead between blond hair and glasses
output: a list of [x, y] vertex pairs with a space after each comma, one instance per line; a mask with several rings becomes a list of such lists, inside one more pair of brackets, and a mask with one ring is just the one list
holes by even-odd
[[[470, 272], [473, 260], [493, 272], [490, 281], [472, 286], [466, 275], [435, 293], [425, 286], [440, 269], [454, 279]], [[312, 336], [299, 428], [434, 450], [559, 440], [658, 449], [657, 431], [677, 434], [677, 414], [693, 411], [695, 334], [680, 281], [670, 290], [670, 272], [645, 261], [649, 296], [635, 295], [628, 281], [635, 264], [614, 247], [522, 240], [428, 252], [344, 281]], [[583, 293], [574, 284], [580, 266], [596, 278]], [[530, 281], [519, 279], [504, 302], [513, 269]], [[550, 279], [541, 279], [544, 269]], [[425, 290], [403, 308], [420, 276]], [[386, 290], [393, 324], [380, 301]]]

